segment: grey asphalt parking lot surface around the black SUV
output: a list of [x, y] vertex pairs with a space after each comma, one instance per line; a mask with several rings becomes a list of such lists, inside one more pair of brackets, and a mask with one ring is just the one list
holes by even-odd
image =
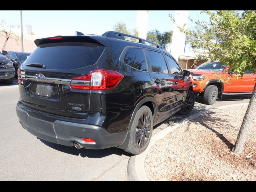
[[[78, 150], [38, 139], [24, 130], [15, 110], [19, 99], [17, 80], [12, 85], [0, 82], [0, 98], [0, 180], [127, 180], [130, 155], [121, 149]], [[196, 97], [191, 114], [249, 99], [250, 96], [226, 96], [207, 106]], [[174, 115], [155, 126], [153, 133], [185, 117]]]

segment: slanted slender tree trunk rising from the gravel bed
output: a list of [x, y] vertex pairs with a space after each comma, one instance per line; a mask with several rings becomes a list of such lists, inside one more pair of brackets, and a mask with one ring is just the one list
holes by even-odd
[[236, 144], [233, 149], [234, 153], [242, 153], [242, 150], [244, 148], [244, 143], [246, 141], [248, 132], [250, 130], [250, 125], [252, 122], [252, 118], [254, 116], [255, 109], [256, 109], [256, 83], [254, 85], [254, 89], [252, 92], [252, 98], [250, 99], [248, 108], [244, 115], [244, 120], [242, 122], [241, 128], [239, 130], [239, 133], [236, 139]]

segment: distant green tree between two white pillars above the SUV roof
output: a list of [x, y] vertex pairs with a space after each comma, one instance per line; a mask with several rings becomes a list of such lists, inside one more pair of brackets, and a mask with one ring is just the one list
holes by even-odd
[[172, 42], [172, 31], [166, 31], [161, 33], [158, 30], [152, 30], [147, 33], [147, 40], [160, 44], [164, 48]]

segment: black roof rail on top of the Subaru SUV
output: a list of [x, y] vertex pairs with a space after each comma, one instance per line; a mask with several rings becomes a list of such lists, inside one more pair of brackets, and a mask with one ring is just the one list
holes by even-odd
[[102, 34], [102, 36], [106, 36], [106, 37], [113, 37], [113, 38], [120, 38], [120, 39], [124, 39], [124, 36], [126, 37], [131, 37], [131, 38], [134, 38], [134, 39], [138, 39], [139, 40], [139, 43], [143, 43], [143, 44], [146, 44], [145, 42], [148, 42], [150, 44], [153, 44], [155, 45], [157, 48], [160, 48], [160, 49], [164, 49], [164, 47], [152, 42], [152, 41], [149, 41], [149, 40], [146, 40], [146, 39], [142, 39], [142, 38], [139, 38], [139, 37], [136, 37], [136, 36], [133, 36], [133, 35], [128, 35], [128, 34], [125, 34], [125, 33], [120, 33], [120, 32], [116, 32], [116, 31], [107, 31], [105, 32], [104, 34]]

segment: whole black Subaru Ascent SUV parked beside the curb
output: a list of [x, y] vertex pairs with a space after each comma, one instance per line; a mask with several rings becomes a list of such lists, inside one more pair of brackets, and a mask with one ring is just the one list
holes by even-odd
[[140, 154], [154, 125], [192, 110], [190, 73], [162, 46], [113, 31], [77, 34], [35, 40], [18, 69], [16, 112], [28, 132], [76, 148]]

